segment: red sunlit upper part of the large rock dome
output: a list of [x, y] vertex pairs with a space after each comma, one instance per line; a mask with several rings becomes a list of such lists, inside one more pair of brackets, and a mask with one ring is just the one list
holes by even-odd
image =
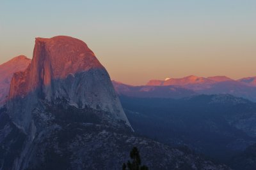
[[[67, 36], [36, 38], [33, 60], [27, 69], [28, 73], [18, 73], [13, 81], [19, 80], [21, 76], [25, 76], [24, 74], [29, 74], [29, 81], [24, 80], [26, 83], [24, 93], [28, 94], [42, 86], [51, 85], [52, 80], [65, 79], [68, 74], [97, 68], [104, 69], [88, 46], [79, 39]], [[20, 95], [22, 94], [19, 94], [17, 87], [10, 89], [10, 99]]]

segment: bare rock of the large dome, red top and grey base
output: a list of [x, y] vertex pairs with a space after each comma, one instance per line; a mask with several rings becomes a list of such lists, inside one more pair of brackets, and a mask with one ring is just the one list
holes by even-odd
[[60, 99], [76, 108], [106, 111], [108, 121], [130, 126], [108, 72], [86, 43], [68, 36], [36, 38], [31, 65], [12, 78], [8, 111], [15, 124], [28, 130], [38, 101]]

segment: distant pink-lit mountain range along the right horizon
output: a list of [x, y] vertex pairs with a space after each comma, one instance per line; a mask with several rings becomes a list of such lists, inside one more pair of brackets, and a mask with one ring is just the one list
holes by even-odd
[[[256, 78], [232, 80], [227, 76], [166, 78], [150, 80], [146, 85], [131, 86], [113, 81], [118, 94], [133, 97], [164, 97], [179, 99], [198, 94], [231, 94], [256, 101]], [[141, 92], [143, 91], [143, 92]]]

